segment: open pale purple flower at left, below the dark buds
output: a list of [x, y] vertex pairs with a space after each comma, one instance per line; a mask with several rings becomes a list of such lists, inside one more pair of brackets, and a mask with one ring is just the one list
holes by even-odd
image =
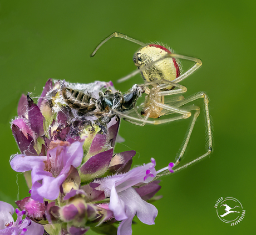
[[65, 181], [70, 167], [78, 167], [82, 162], [82, 142], [52, 141], [47, 156], [16, 155], [11, 160], [14, 171], [31, 170], [33, 200], [43, 202], [43, 198], [55, 200], [60, 186]]

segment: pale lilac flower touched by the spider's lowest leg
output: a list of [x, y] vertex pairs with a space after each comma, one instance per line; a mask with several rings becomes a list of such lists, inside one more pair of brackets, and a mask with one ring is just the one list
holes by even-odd
[[142, 200], [132, 186], [138, 183], [149, 183], [155, 176], [155, 160], [151, 159], [149, 164], [135, 167], [125, 174], [95, 181], [100, 184], [96, 189], [104, 190], [105, 195], [110, 197], [109, 208], [113, 211], [115, 219], [122, 221], [117, 229], [118, 235], [131, 234], [131, 222], [135, 214], [141, 222], [154, 224], [157, 209]]

